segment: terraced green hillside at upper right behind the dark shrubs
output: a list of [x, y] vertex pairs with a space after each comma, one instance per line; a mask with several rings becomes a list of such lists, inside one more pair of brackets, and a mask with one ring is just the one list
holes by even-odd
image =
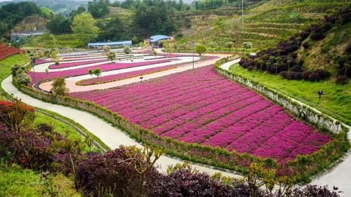
[[[214, 15], [213, 20], [204, 20], [204, 17], [201, 17], [200, 20], [199, 17], [190, 17], [194, 28], [186, 29], [184, 34], [189, 36], [180, 39], [179, 43], [188, 43], [194, 39], [197, 43], [208, 45], [211, 41], [216, 41], [218, 48], [210, 48], [210, 50], [228, 50], [224, 48], [227, 41], [233, 41], [237, 47], [240, 47], [245, 41], [251, 41], [253, 48], [267, 48], [305, 29], [311, 23], [317, 22], [330, 8], [350, 5], [350, 3], [340, 3], [340, 1], [279, 2], [267, 1], [244, 11], [244, 25], [241, 23], [241, 13], [236, 8], [233, 8], [231, 17], [228, 16], [229, 13], [224, 12], [227, 15], [226, 18], [223, 15]], [[220, 19], [222, 20], [218, 24]], [[190, 49], [190, 46], [187, 46], [187, 49]]]

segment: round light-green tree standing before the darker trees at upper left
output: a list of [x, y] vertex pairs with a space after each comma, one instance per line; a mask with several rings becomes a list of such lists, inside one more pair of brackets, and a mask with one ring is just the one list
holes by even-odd
[[71, 27], [74, 34], [78, 34], [79, 39], [84, 43], [95, 39], [100, 30], [96, 27], [96, 21], [90, 13], [81, 13], [74, 17]]

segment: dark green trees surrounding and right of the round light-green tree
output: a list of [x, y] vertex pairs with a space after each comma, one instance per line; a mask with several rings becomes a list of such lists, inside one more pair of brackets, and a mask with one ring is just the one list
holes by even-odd
[[[48, 22], [48, 29], [52, 34], [70, 33], [72, 22], [77, 15], [88, 12], [95, 19], [101, 18], [110, 12], [109, 6], [116, 6], [116, 4], [119, 3], [110, 4], [108, 0], [89, 1], [87, 10], [80, 6], [67, 16], [55, 15]], [[99, 28], [99, 34], [95, 40], [133, 40], [134, 43], [138, 43], [154, 34], [171, 35], [179, 27], [178, 22], [173, 20], [174, 12], [176, 8], [182, 9], [183, 7], [182, 2], [176, 3], [175, 1], [152, 0], [138, 1], [138, 3], [133, 1], [133, 4], [127, 6], [134, 13], [128, 21], [118, 15], [110, 20], [95, 21]]]

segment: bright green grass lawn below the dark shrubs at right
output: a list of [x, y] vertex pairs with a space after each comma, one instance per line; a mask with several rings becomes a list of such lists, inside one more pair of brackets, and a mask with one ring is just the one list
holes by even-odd
[[[230, 72], [278, 90], [289, 97], [300, 100], [333, 118], [351, 125], [351, 83], [342, 86], [337, 85], [332, 80], [320, 82], [289, 81], [279, 75], [258, 71], [249, 72], [247, 69], [239, 67], [239, 64], [230, 67]], [[318, 90], [324, 91], [322, 100], [319, 100]]]

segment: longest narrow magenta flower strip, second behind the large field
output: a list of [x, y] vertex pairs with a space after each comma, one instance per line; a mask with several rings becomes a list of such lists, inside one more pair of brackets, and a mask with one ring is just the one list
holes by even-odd
[[28, 72], [29, 76], [33, 79], [33, 81], [29, 84], [32, 86], [33, 83], [37, 83], [40, 81], [44, 81], [46, 79], [53, 79], [56, 77], [70, 77], [70, 76], [80, 76], [88, 74], [89, 69], [100, 68], [101, 72], [107, 72], [111, 70], [117, 69], [126, 69], [131, 67], [142, 67], [150, 64], [159, 64], [164, 62], [171, 62], [171, 60], [154, 60], [154, 61], [147, 61], [147, 62], [131, 62], [131, 63], [107, 63], [107, 64], [100, 64], [91, 67], [84, 67], [80, 69], [69, 69], [65, 71], [58, 71], [58, 72], [49, 72], [48, 74], [44, 72], [37, 72], [35, 73], [35, 81], [34, 81], [34, 73]]

